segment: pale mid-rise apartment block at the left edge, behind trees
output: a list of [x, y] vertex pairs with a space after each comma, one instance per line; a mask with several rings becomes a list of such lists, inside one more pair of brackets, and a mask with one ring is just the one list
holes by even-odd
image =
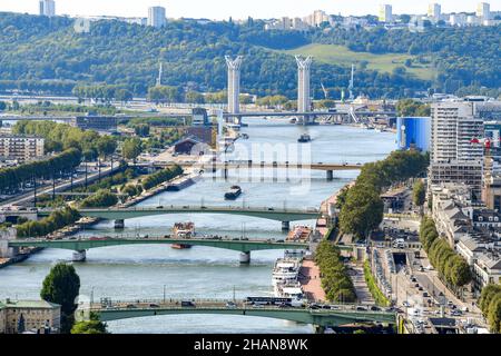
[[45, 139], [41, 137], [0, 136], [0, 157], [19, 161], [31, 160], [43, 156], [43, 144]]

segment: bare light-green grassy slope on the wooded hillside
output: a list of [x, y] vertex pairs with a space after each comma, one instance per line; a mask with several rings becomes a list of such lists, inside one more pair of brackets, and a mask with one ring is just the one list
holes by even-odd
[[[346, 47], [336, 44], [307, 44], [292, 50], [281, 51], [287, 55], [313, 56], [321, 62], [328, 65], [350, 66], [351, 63], [358, 63], [366, 60], [367, 68], [382, 72], [392, 72], [396, 67], [404, 67], [404, 61], [413, 56], [403, 53], [386, 53], [373, 55], [369, 52], [354, 52]], [[419, 79], [432, 80], [436, 71], [431, 67], [424, 65], [413, 65], [412, 68], [406, 68], [407, 72], [415, 75]]]

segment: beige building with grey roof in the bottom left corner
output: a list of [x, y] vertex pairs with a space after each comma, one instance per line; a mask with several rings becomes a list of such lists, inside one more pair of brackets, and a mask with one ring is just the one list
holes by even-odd
[[58, 334], [61, 306], [45, 300], [0, 301], [0, 334]]

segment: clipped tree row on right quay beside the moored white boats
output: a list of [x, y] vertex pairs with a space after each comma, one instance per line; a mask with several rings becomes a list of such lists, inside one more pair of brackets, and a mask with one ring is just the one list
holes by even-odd
[[354, 303], [356, 300], [355, 287], [347, 275], [341, 251], [332, 243], [322, 240], [315, 253], [315, 264], [322, 277], [322, 288], [328, 301]]

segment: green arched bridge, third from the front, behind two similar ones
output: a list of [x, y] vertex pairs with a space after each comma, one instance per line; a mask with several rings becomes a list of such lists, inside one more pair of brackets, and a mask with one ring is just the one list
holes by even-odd
[[[56, 209], [38, 209], [38, 216], [49, 216]], [[275, 221], [282, 221], [284, 229], [288, 230], [291, 221], [313, 220], [318, 216], [316, 209], [301, 210], [301, 209], [281, 209], [281, 208], [250, 208], [250, 207], [207, 207], [207, 206], [158, 206], [147, 208], [92, 208], [79, 209], [84, 217], [94, 217], [106, 220], [126, 220], [146, 216], [168, 215], [168, 214], [230, 214], [249, 216]]]

